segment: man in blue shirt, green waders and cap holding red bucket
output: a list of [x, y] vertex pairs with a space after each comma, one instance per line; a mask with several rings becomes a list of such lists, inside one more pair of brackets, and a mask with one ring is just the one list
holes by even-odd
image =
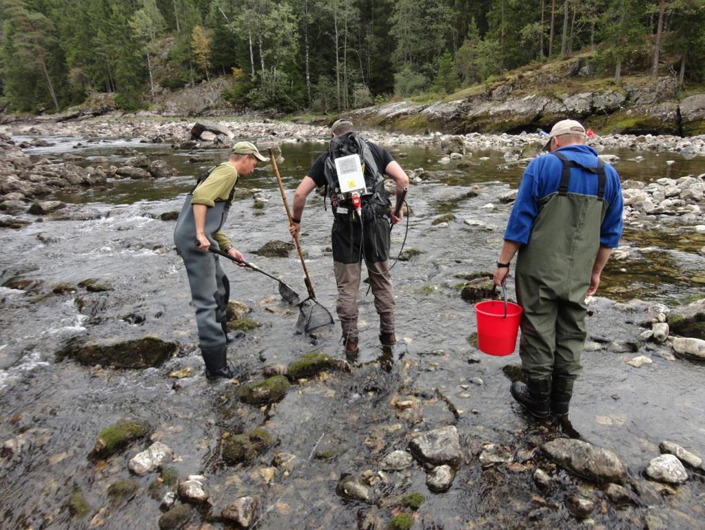
[[585, 341], [586, 296], [595, 293], [622, 236], [622, 185], [615, 169], [585, 145], [575, 120], [553, 126], [522, 177], [494, 272], [505, 282], [518, 251], [520, 355], [526, 384], [512, 396], [536, 417], [568, 416]]

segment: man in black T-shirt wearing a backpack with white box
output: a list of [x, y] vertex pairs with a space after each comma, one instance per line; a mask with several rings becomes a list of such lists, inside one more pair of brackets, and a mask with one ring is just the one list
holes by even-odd
[[[355, 156], [357, 158], [355, 158]], [[337, 160], [337, 163], [336, 163]], [[350, 179], [338, 175], [345, 167], [355, 165], [364, 176], [364, 185], [353, 191]], [[354, 170], [351, 170], [354, 171]], [[409, 177], [389, 151], [355, 132], [350, 120], [336, 120], [331, 127], [331, 143], [311, 166], [294, 194], [291, 236], [297, 239], [301, 215], [307, 196], [317, 187], [326, 186], [333, 210], [333, 270], [338, 284], [336, 309], [341, 320], [345, 352], [357, 353], [357, 291], [360, 288], [362, 258], [367, 266], [379, 314], [379, 341], [384, 346], [396, 343], [394, 330], [394, 293], [389, 273], [390, 223], [402, 220], [393, 214], [391, 201], [384, 189], [384, 175], [396, 184], [396, 198], [401, 200]], [[324, 199], [325, 200], [325, 199]]]

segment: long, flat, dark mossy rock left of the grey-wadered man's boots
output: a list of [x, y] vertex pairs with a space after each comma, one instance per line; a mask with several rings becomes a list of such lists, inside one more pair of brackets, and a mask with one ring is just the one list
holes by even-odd
[[71, 342], [56, 352], [56, 360], [69, 357], [82, 365], [144, 369], [160, 366], [178, 349], [176, 342], [166, 342], [151, 336], [114, 344]]

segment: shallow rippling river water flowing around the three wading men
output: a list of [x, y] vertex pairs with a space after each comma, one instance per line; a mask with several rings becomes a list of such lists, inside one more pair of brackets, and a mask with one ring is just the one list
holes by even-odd
[[[161, 495], [155, 500], [148, 489], [157, 473], [131, 477], [139, 490], [129, 501], [110, 500], [106, 493], [112, 482], [130, 479], [127, 462], [146, 447], [144, 442], [97, 464], [87, 459], [99, 431], [125, 416], [154, 426], [152, 439], [173, 449], [177, 458], [172, 466], [181, 479], [189, 474], [208, 477], [214, 509], [202, 507], [192, 522], [211, 522], [214, 528], [223, 526], [216, 517], [222, 507], [249, 495], [259, 498], [261, 529], [381, 529], [393, 514], [390, 499], [412, 491], [426, 499], [415, 528], [577, 528], [584, 523], [563, 507], [565, 493], [575, 492], [596, 499], [596, 528], [642, 528], [646, 505], [666, 514], [670, 528], [701, 527], [702, 474], [693, 474], [677, 490], [655, 494], [656, 500], [618, 508], [599, 490], [560, 469], [553, 472], [556, 483], [539, 491], [532, 481], [534, 468], [553, 469], [540, 455], [526, 465], [479, 464], [477, 453], [484, 443], [501, 444], [516, 454], [558, 436], [555, 426], [525, 417], [510, 398], [503, 367], [520, 362], [518, 355], [492, 358], [479, 354], [468, 341], [476, 329], [474, 311], [459, 296], [459, 275], [493, 270], [501, 247], [511, 206], [498, 197], [517, 187], [522, 173], [521, 168], [499, 168], [505, 163], [503, 153], [473, 153], [469, 167], [460, 169], [440, 165], [433, 147], [391, 149], [407, 170], [423, 167], [434, 173], [434, 178], [412, 187], [408, 197], [413, 215], [406, 246], [421, 253], [393, 270], [397, 335], [403, 341], [391, 353], [378, 346], [373, 299], [365, 295], [363, 284], [360, 355], [350, 360], [353, 372], [295, 384], [281, 403], [259, 409], [238, 404], [232, 384], [212, 384], [202, 377], [188, 282], [173, 251], [174, 222], [159, 219], [161, 213], [179, 210], [195, 176], [227, 152], [197, 153], [200, 161], [190, 163], [193, 153], [130, 141], [47, 140], [56, 145], [27, 152], [56, 158], [71, 152], [89, 163], [90, 157], [101, 156], [118, 164], [127, 158], [121, 153], [128, 147], [165, 160], [179, 176], [116, 180], [103, 188], [56, 196], [79, 205], [76, 208], [97, 211], [99, 219], [45, 220], [0, 232], [2, 283], [35, 282], [27, 291], [0, 288], [0, 441], [25, 441], [16, 453], [4, 450], [0, 460], [2, 529], [157, 528]], [[282, 146], [286, 161], [280, 171], [289, 198], [323, 147]], [[702, 168], [701, 158], [646, 154], [639, 162], [630, 151], [615, 154], [622, 158], [616, 167], [623, 179], [649, 182], [698, 175]], [[246, 258], [304, 294], [295, 252], [289, 258], [252, 253], [266, 241], [288, 241], [286, 214], [271, 170], [257, 168], [240, 185], [264, 190], [269, 202], [253, 208], [252, 198], [236, 201], [226, 233]], [[477, 196], [467, 197], [470, 189]], [[483, 208], [489, 203], [494, 208]], [[448, 212], [457, 217], [448, 227], [431, 226], [435, 217]], [[466, 219], [482, 221], [485, 227], [466, 225]], [[584, 372], [572, 401], [572, 423], [584, 439], [615, 450], [634, 481], [643, 481], [646, 464], [665, 439], [705, 454], [705, 366], [668, 360], [660, 355], [667, 348], [638, 339], [648, 305], [678, 305], [702, 296], [705, 258], [698, 251], [705, 236], [677, 222], [627, 227], [624, 244], [632, 257], [609, 265], [598, 293], [604, 298], [598, 296], [590, 306], [589, 341], [599, 348], [584, 353]], [[334, 313], [330, 225], [322, 199], [309, 196], [302, 246], [317, 299]], [[404, 226], [393, 229], [393, 253], [404, 235]], [[262, 323], [229, 347], [241, 381], [254, 377], [263, 365], [287, 364], [309, 351], [340, 355], [337, 328], [314, 339], [294, 334], [298, 312], [278, 297], [276, 282], [229, 263], [223, 267], [231, 279], [231, 299], [250, 305], [248, 317]], [[39, 297], [60, 282], [76, 286], [87, 278], [111, 290], [90, 293], [77, 287], [75, 292]], [[147, 370], [55, 360], [54, 354], [69, 339], [111, 342], [143, 336], [178, 341], [180, 353]], [[639, 369], [625, 364], [636, 355], [650, 355], [654, 362]], [[192, 375], [168, 377], [182, 367], [191, 367]], [[414, 403], [410, 408], [393, 405], [409, 399]], [[417, 464], [403, 472], [378, 474], [379, 460], [391, 450], [406, 448], [412, 433], [448, 424], [458, 428], [465, 455], [450, 491], [430, 493]], [[224, 465], [219, 458], [221, 434], [259, 425], [276, 438], [274, 448], [248, 465]], [[280, 471], [266, 481], [259, 470], [271, 465], [276, 451], [293, 453], [299, 465], [290, 476]], [[372, 477], [376, 502], [336, 496], [342, 473]], [[72, 517], [66, 508], [74, 488], [80, 488], [90, 506], [85, 519]], [[157, 493], [164, 491], [157, 488]]]

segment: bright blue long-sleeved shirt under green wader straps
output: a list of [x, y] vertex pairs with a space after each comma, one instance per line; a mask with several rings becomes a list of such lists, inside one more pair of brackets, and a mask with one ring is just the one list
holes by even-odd
[[[586, 145], [565, 146], [558, 149], [565, 158], [575, 160], [586, 168], [597, 167], [597, 151]], [[531, 236], [534, 220], [539, 215], [539, 201], [560, 187], [563, 163], [557, 156], [546, 153], [532, 160], [522, 176], [517, 192], [517, 200], [509, 216], [504, 239], [527, 244]], [[606, 182], [604, 199], [608, 203], [607, 213], [600, 227], [600, 246], [615, 248], [622, 236], [622, 183], [615, 168], [605, 164]], [[568, 191], [583, 195], [597, 195], [597, 175], [581, 170], [570, 169]]]

